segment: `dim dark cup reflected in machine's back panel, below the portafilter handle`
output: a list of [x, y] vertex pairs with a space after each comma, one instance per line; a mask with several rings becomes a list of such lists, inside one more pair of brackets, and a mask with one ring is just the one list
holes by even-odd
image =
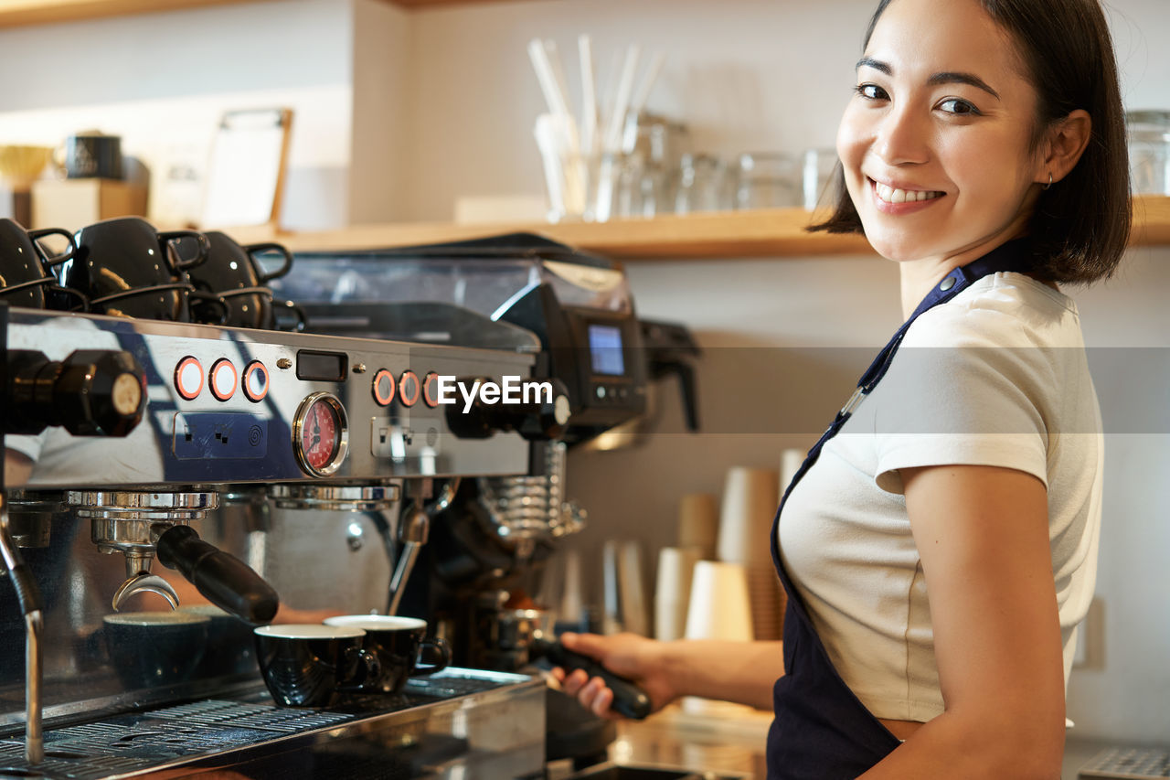
[[105, 649], [128, 690], [194, 678], [211, 618], [187, 613], [115, 613], [102, 620]]

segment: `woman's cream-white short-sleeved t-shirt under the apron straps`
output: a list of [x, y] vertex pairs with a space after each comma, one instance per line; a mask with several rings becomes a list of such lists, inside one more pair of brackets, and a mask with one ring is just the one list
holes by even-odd
[[922, 314], [780, 518], [784, 566], [846, 684], [879, 718], [943, 711], [922, 562], [899, 468], [990, 465], [1048, 491], [1065, 648], [1096, 579], [1103, 437], [1073, 301], [996, 273]]

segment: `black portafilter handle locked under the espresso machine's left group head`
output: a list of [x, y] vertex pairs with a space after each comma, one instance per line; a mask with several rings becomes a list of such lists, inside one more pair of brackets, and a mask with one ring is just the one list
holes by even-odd
[[199, 538], [190, 526], [171, 526], [156, 542], [158, 560], [178, 569], [208, 601], [254, 625], [271, 623], [280, 596], [247, 563]]

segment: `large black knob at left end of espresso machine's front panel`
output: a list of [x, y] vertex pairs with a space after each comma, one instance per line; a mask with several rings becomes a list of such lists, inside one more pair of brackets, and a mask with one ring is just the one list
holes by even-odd
[[13, 408], [6, 433], [60, 425], [74, 436], [126, 436], [146, 409], [145, 372], [126, 351], [80, 349], [57, 362], [13, 350], [7, 368]]

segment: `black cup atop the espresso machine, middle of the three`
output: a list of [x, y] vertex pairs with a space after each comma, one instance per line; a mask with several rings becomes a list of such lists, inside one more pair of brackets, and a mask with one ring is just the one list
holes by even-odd
[[[83, 227], [75, 238], [77, 253], [62, 266], [64, 283], [89, 296], [95, 314], [172, 322], [223, 319], [222, 301], [212, 314], [197, 309], [192, 316], [193, 306], [215, 306], [214, 296], [195, 292], [186, 274], [207, 260], [209, 245], [202, 233], [159, 232], [145, 219], [118, 217]], [[180, 241], [194, 246], [190, 256], [180, 256]]]

